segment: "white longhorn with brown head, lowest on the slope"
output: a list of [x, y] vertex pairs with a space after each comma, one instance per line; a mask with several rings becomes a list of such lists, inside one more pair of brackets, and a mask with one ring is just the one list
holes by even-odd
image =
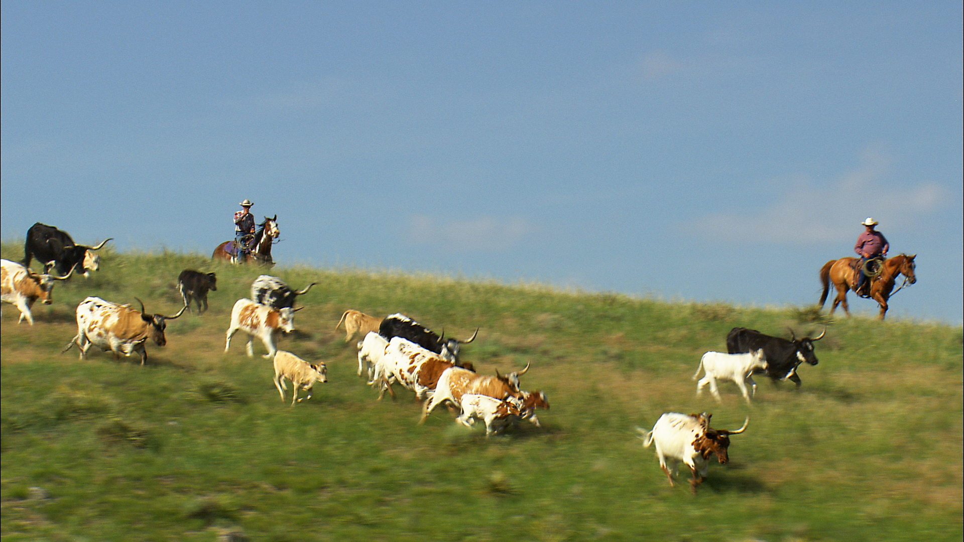
[[[689, 484], [695, 494], [696, 488], [710, 470], [710, 455], [715, 453], [720, 465], [726, 465], [730, 461], [728, 452], [730, 435], [742, 433], [750, 423], [750, 419], [747, 418], [743, 426], [736, 431], [713, 429], [710, 427], [711, 417], [712, 415], [707, 413], [687, 416], [677, 412], [667, 412], [656, 420], [652, 431], [636, 427], [640, 438], [643, 439], [643, 447], [650, 447], [656, 443], [659, 467], [669, 478], [669, 485], [676, 485], [673, 476], [680, 461], [683, 461], [693, 474]], [[666, 467], [667, 460], [670, 461], [671, 468]]]

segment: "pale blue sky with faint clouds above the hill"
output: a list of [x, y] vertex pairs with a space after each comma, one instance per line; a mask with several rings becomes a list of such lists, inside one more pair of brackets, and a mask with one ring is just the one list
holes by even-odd
[[282, 265], [786, 306], [873, 216], [891, 313], [962, 320], [960, 2], [0, 10], [4, 239], [209, 254], [250, 198]]

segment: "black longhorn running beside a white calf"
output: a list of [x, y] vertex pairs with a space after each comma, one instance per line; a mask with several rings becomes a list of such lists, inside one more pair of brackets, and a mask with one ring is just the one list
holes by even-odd
[[814, 341], [823, 339], [827, 330], [823, 330], [813, 339], [804, 337], [797, 339], [790, 330], [790, 340], [763, 335], [757, 330], [747, 328], [733, 328], [726, 336], [727, 351], [731, 354], [744, 354], [751, 350], [763, 348], [766, 368], [754, 372], [765, 372], [774, 381], [790, 380], [800, 386], [800, 377], [796, 374], [796, 367], [807, 362], [817, 365], [817, 355], [814, 354]]

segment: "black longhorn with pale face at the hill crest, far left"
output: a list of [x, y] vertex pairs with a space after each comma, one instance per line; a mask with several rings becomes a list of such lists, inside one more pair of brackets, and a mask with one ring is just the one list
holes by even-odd
[[27, 230], [27, 240], [23, 244], [23, 266], [30, 267], [30, 259], [36, 257], [43, 264], [44, 272], [49, 272], [52, 267], [57, 275], [63, 276], [76, 267], [83, 270], [85, 277], [90, 277], [91, 271], [100, 268], [100, 257], [93, 251], [100, 250], [111, 239], [113, 237], [95, 247], [86, 247], [74, 243], [67, 231], [38, 222]]

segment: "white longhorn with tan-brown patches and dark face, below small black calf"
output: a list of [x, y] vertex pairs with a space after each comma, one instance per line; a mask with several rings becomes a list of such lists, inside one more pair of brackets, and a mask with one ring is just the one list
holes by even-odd
[[[137, 299], [136, 297], [134, 299]], [[147, 362], [145, 343], [151, 339], [158, 346], [168, 343], [164, 336], [167, 320], [173, 320], [184, 313], [187, 307], [181, 308], [174, 316], [164, 314], [147, 314], [144, 302], [141, 310], [135, 311], [128, 305], [118, 305], [104, 301], [99, 297], [88, 297], [77, 306], [77, 335], [70, 340], [64, 352], [74, 344], [80, 349], [80, 359], [87, 358], [87, 351], [91, 345], [114, 352], [114, 357], [120, 354], [130, 357], [137, 352], [141, 355], [141, 365]]]

